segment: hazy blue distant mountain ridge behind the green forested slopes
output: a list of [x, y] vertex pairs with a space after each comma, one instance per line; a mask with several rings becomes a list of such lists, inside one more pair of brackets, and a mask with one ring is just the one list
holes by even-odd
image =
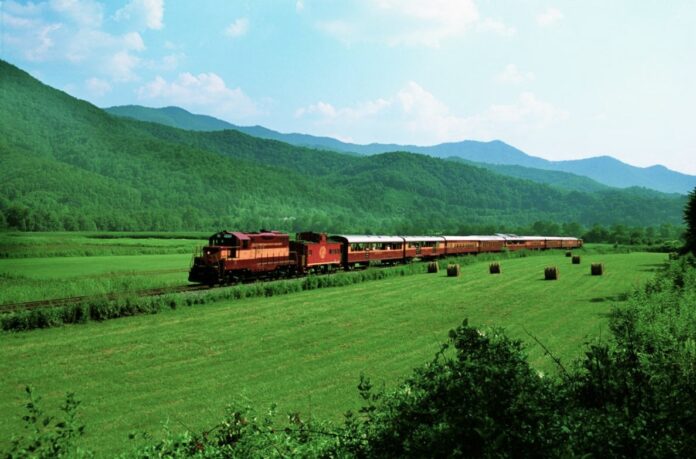
[[[570, 161], [549, 161], [526, 154], [522, 150], [500, 140], [478, 142], [464, 140], [461, 142], [442, 143], [433, 146], [379, 144], [359, 145], [341, 142], [330, 137], [317, 137], [308, 134], [284, 134], [267, 129], [263, 126], [237, 126], [226, 121], [206, 116], [195, 115], [179, 107], [148, 108], [138, 105], [110, 107], [107, 112], [138, 119], [178, 127], [194, 131], [216, 131], [235, 129], [245, 134], [262, 139], [279, 140], [296, 146], [317, 148], [323, 150], [373, 155], [392, 151], [426, 154], [439, 158], [460, 158], [476, 163], [497, 164], [505, 166], [522, 166], [551, 171], [560, 171], [577, 176], [587, 177], [599, 184], [616, 188], [645, 187], [664, 193], [686, 194], [696, 187], [696, 176], [672, 171], [664, 166], [636, 167], [619, 161], [611, 156], [599, 156]], [[489, 168], [489, 167], [487, 167]], [[492, 168], [489, 168], [492, 169]], [[495, 170], [495, 169], [493, 169]], [[507, 171], [507, 173], [506, 173]], [[543, 174], [535, 171], [499, 168], [496, 172], [504, 175], [527, 178], [534, 181], [545, 179]], [[514, 174], [511, 174], [514, 172]], [[551, 180], [551, 179], [549, 179]], [[558, 176], [553, 179], [557, 186], [563, 185]], [[571, 182], [577, 178], [568, 177]], [[541, 181], [540, 183], [549, 183]], [[582, 183], [581, 189], [598, 189], [591, 183]], [[571, 189], [575, 189], [571, 187]]]

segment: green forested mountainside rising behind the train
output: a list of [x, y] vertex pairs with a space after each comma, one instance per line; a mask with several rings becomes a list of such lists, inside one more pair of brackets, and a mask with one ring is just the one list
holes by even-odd
[[431, 233], [678, 224], [684, 197], [565, 192], [412, 153], [368, 157], [112, 116], [0, 61], [0, 226]]

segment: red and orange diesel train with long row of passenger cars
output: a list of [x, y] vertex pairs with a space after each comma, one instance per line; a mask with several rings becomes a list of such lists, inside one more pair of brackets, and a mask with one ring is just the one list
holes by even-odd
[[189, 282], [233, 284], [312, 273], [351, 270], [370, 264], [392, 265], [415, 259], [502, 252], [574, 249], [575, 237], [517, 236], [375, 236], [302, 232], [294, 239], [281, 231], [220, 231], [194, 254]]

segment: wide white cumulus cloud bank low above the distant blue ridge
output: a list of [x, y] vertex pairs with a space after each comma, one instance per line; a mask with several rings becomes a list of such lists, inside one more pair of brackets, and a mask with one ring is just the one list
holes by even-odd
[[[480, 113], [461, 116], [414, 81], [391, 97], [336, 107], [321, 101], [295, 111], [318, 134], [362, 141], [441, 143], [467, 138], [520, 138], [538, 135], [568, 118], [568, 113], [523, 92], [509, 104], [491, 105]], [[396, 136], [396, 137], [395, 137]]]

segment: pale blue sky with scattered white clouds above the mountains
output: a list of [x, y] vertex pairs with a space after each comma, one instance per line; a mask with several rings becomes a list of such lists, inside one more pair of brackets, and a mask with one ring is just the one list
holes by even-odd
[[3, 0], [0, 55], [101, 107], [696, 174], [695, 24], [691, 0]]

